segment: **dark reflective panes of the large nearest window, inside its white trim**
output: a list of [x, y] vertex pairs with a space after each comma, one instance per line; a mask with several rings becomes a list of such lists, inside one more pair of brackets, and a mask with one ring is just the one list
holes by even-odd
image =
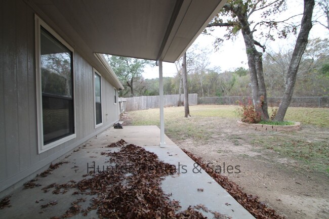
[[40, 27], [44, 145], [74, 134], [73, 53]]

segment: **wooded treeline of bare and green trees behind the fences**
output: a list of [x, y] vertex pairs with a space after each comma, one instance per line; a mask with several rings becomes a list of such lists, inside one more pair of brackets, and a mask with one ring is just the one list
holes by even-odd
[[[285, 74], [293, 49], [281, 48], [279, 52], [263, 55], [263, 68], [268, 97], [281, 97], [284, 92]], [[198, 97], [251, 96], [249, 70], [236, 67], [222, 71], [211, 67], [210, 52], [207, 49], [191, 48], [187, 52], [187, 73], [189, 93]], [[234, 60], [232, 60], [234, 62]], [[178, 69], [179, 70], [179, 69]], [[156, 74], [156, 72], [155, 72]], [[175, 77], [163, 77], [165, 95], [179, 94], [181, 73]], [[159, 79], [134, 79], [134, 96], [159, 95]], [[125, 85], [125, 82], [122, 81]], [[130, 87], [122, 92], [123, 97], [132, 97]], [[183, 94], [183, 92], [182, 92]], [[294, 91], [295, 97], [329, 96], [329, 39], [310, 39], [303, 55]]]

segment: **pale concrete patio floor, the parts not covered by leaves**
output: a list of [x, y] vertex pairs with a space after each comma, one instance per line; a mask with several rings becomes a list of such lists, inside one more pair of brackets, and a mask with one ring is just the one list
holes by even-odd
[[[94, 164], [96, 168], [102, 169], [108, 163], [106, 163], [107, 157], [100, 155], [100, 153], [102, 151], [119, 150], [118, 148], [106, 148], [106, 146], [120, 139], [137, 146], [143, 146], [146, 150], [157, 154], [160, 160], [174, 164], [177, 167], [178, 165], [184, 166], [183, 169], [180, 169], [180, 174], [167, 177], [161, 185], [165, 193], [172, 194], [172, 199], [180, 201], [182, 210], [190, 205], [203, 204], [209, 210], [226, 214], [232, 218], [254, 218], [207, 173], [197, 167], [194, 161], [168, 137], [166, 137], [167, 147], [160, 148], [158, 146], [160, 130], [157, 126], [124, 126], [123, 129], [111, 127], [105, 130], [105, 132], [89, 140], [75, 152], [60, 160], [68, 163], [62, 164], [45, 178], [38, 177], [38, 180], [33, 183], [40, 186], [25, 190], [23, 190], [23, 187], [15, 189], [10, 198], [12, 207], [0, 210], [0, 218], [50, 218], [60, 216], [78, 198], [86, 198], [86, 202], [80, 202], [79, 204], [83, 208], [88, 207], [92, 196], [72, 195], [77, 191], [76, 189], [69, 189], [64, 194], [52, 194], [53, 189], [45, 193], [42, 188], [52, 183], [64, 184], [71, 180], [80, 181], [84, 179], [84, 174], [93, 170]], [[57, 204], [42, 208], [42, 205], [51, 202]], [[202, 213], [208, 218], [214, 217], [211, 213]], [[70, 218], [81, 217], [98, 218], [98, 215], [96, 210], [93, 210], [88, 213], [87, 217], [82, 216], [80, 213]]]

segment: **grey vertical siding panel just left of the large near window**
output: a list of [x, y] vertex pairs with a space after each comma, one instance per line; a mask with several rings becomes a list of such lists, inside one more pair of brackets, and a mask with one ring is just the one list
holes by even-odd
[[17, 97], [18, 97], [18, 136], [20, 170], [30, 166], [30, 139], [26, 132], [29, 127], [28, 111], [28, 82], [27, 82], [27, 21], [26, 6], [22, 1], [17, 2], [16, 32], [16, 65], [17, 65]]

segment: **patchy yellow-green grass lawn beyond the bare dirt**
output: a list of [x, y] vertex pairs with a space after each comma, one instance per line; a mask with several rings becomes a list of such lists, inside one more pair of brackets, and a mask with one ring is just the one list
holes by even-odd
[[[166, 135], [174, 141], [192, 139], [197, 142], [211, 142], [218, 135], [216, 123], [223, 122], [223, 119], [234, 123], [238, 119], [236, 108], [237, 106], [190, 106], [190, 118], [184, 117], [184, 107], [165, 108]], [[132, 125], [159, 126], [159, 109], [129, 112], [129, 117]], [[325, 134], [329, 128], [329, 109], [291, 107], [284, 119], [301, 122], [303, 130], [266, 134], [254, 131], [248, 135], [228, 134], [226, 138], [273, 150], [284, 157], [301, 161], [308, 168], [329, 174], [329, 137]], [[321, 129], [325, 130], [322, 134], [319, 132]]]

